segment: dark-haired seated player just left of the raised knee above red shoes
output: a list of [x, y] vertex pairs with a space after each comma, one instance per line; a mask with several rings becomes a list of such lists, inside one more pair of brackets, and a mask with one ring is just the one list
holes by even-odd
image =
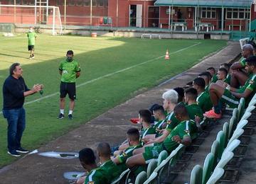
[[196, 98], [196, 103], [198, 106], [203, 110], [203, 113], [206, 111], [211, 110], [213, 108], [213, 104], [210, 102], [210, 95], [206, 93], [206, 82], [203, 78], [198, 77], [193, 80], [193, 88], [196, 88], [198, 93], [198, 97]]

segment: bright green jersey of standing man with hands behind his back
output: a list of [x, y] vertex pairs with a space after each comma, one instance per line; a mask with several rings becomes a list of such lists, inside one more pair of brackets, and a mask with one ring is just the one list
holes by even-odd
[[65, 59], [63, 62], [60, 62], [59, 70], [62, 71], [61, 81], [75, 83], [76, 73], [80, 71], [80, 65], [75, 60], [68, 62], [68, 60]]

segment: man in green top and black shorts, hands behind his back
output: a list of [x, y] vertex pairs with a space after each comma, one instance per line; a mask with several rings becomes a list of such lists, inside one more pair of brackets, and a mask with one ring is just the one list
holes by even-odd
[[68, 94], [70, 98], [68, 118], [73, 119], [73, 110], [75, 107], [75, 80], [80, 76], [80, 65], [73, 59], [74, 52], [68, 50], [67, 58], [60, 63], [59, 71], [61, 75], [60, 83], [60, 115], [58, 119], [64, 118], [65, 96]]

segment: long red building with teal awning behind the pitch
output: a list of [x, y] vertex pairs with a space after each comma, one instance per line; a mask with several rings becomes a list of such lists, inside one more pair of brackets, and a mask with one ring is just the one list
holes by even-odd
[[[47, 0], [37, 1], [46, 6]], [[91, 4], [92, 2], [92, 4]], [[1, 0], [1, 4], [34, 5], [33, 0]], [[48, 0], [58, 6], [64, 25], [168, 28], [170, 30], [250, 30], [256, 17], [252, 0]], [[46, 23], [46, 8], [4, 11], [0, 22]], [[66, 10], [66, 11], [65, 11]], [[50, 11], [50, 10], [48, 10]], [[24, 13], [26, 12], [26, 13]], [[26, 14], [26, 18], [23, 16]], [[35, 16], [33, 15], [36, 15]]]

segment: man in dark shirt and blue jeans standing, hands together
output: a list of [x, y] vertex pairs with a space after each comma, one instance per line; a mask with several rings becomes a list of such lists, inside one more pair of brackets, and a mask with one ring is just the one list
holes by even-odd
[[7, 141], [8, 154], [21, 156], [19, 153], [28, 153], [28, 150], [21, 147], [21, 137], [26, 127], [25, 110], [23, 103], [26, 96], [30, 96], [41, 91], [43, 85], [36, 84], [30, 90], [22, 78], [23, 70], [19, 63], [14, 63], [10, 67], [10, 76], [4, 81], [3, 114], [8, 122]]

